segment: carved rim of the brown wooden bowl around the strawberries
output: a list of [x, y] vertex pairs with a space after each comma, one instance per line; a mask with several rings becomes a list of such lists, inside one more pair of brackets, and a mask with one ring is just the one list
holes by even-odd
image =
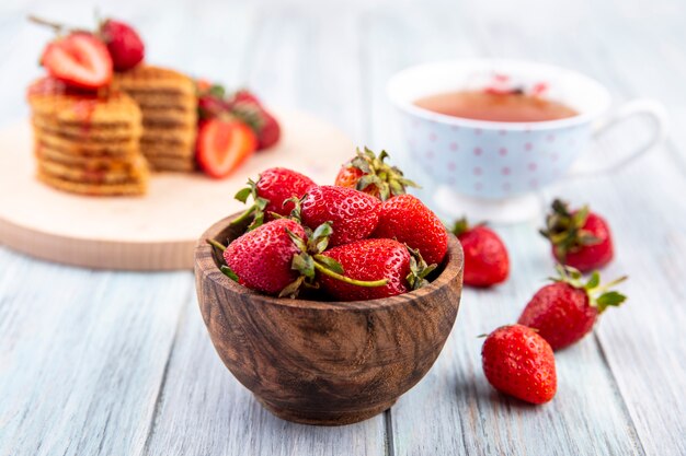
[[215, 248], [207, 244], [206, 239], [213, 238], [221, 243], [226, 239], [218, 238], [219, 234], [225, 232], [229, 223], [240, 215], [235, 213], [225, 219], [221, 219], [214, 225], [211, 225], [197, 241], [195, 245], [195, 274], [201, 277], [202, 280], [209, 280], [230, 293], [239, 293], [243, 295], [252, 295], [255, 300], [264, 304], [271, 304], [276, 306], [286, 306], [301, 309], [321, 309], [321, 311], [362, 311], [362, 309], [382, 309], [391, 308], [397, 305], [402, 305], [408, 301], [416, 299], [423, 299], [437, 290], [448, 287], [456, 280], [456, 277], [460, 273], [465, 266], [465, 258], [462, 254], [462, 247], [453, 234], [448, 234], [448, 252], [444, 259], [443, 270], [430, 284], [404, 294], [399, 294], [391, 297], [382, 297], [378, 300], [368, 301], [313, 301], [313, 300], [300, 300], [288, 297], [273, 297], [266, 294], [262, 294], [258, 291], [251, 290], [247, 287], [240, 285], [226, 277], [218, 268], [215, 260]]

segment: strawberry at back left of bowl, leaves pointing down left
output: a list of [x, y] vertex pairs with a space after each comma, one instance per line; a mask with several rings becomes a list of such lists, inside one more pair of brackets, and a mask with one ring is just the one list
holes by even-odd
[[239, 224], [249, 217], [253, 217], [248, 227], [254, 230], [265, 218], [271, 220], [272, 213], [287, 217], [295, 209], [291, 198], [300, 199], [306, 191], [316, 186], [315, 182], [304, 174], [285, 167], [272, 167], [258, 176], [258, 180], [248, 179], [248, 186], [236, 194], [236, 199], [245, 202], [252, 197], [253, 204], [236, 219], [232, 224]]

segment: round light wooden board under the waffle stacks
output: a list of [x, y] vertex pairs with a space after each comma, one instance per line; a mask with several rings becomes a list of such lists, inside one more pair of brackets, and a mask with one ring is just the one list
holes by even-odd
[[28, 121], [0, 130], [0, 243], [37, 258], [99, 269], [193, 268], [197, 237], [243, 204], [233, 195], [248, 177], [285, 166], [333, 183], [354, 154], [335, 127], [299, 112], [278, 112], [281, 142], [233, 175], [159, 173], [145, 197], [83, 197], [36, 180]]

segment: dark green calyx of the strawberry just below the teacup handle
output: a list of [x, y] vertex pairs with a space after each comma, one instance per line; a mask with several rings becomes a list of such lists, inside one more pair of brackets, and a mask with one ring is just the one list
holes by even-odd
[[553, 245], [559, 261], [564, 262], [569, 253], [601, 242], [591, 232], [583, 230], [588, 213], [587, 206], [572, 212], [567, 202], [560, 199], [552, 201], [551, 211], [546, 217], [546, 227], [539, 233]]

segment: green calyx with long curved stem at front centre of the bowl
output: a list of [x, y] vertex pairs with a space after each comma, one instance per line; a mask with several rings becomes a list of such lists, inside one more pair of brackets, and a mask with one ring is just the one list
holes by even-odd
[[300, 276], [282, 290], [278, 294], [279, 297], [297, 297], [301, 287], [319, 288], [319, 282], [317, 282], [318, 273], [357, 287], [384, 287], [388, 283], [388, 279], [374, 281], [351, 279], [344, 276], [343, 266], [339, 261], [322, 255], [329, 246], [329, 238], [333, 233], [331, 223], [322, 223], [313, 232], [307, 227], [305, 231], [307, 241], [290, 230], [286, 230], [295, 246], [300, 250], [294, 255], [290, 261], [290, 269], [298, 271]]

